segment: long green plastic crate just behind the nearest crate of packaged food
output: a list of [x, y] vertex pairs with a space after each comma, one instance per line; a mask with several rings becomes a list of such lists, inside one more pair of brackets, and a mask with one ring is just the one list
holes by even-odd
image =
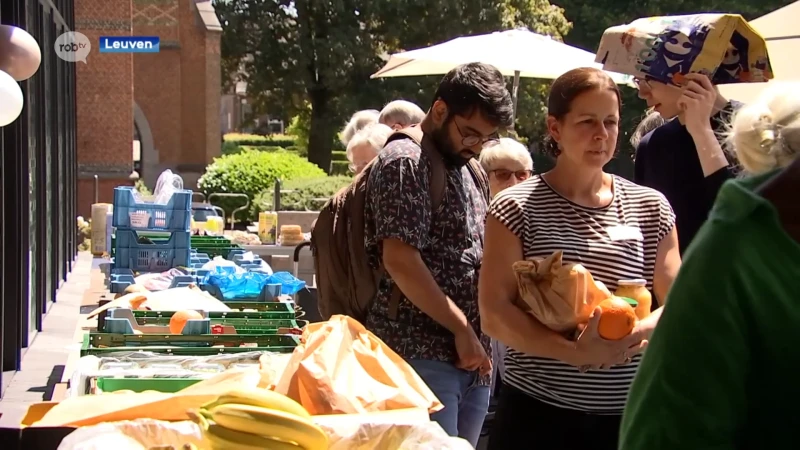
[[[243, 343], [255, 343], [256, 346], [213, 347], [213, 345], [220, 344], [240, 345]], [[171, 355], [192, 356], [244, 352], [291, 353], [299, 344], [299, 336], [286, 334], [202, 334], [176, 336], [89, 333], [83, 338], [81, 356], [108, 355], [114, 352], [131, 351], [149, 351]]]

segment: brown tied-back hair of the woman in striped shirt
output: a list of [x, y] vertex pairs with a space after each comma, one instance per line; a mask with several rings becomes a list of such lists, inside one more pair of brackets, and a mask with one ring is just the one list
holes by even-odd
[[[617, 95], [622, 109], [622, 96], [614, 80], [607, 73], [592, 67], [581, 67], [564, 73], [553, 81], [547, 98], [547, 115], [561, 121], [571, 111], [572, 102], [581, 94], [595, 89], [608, 89]], [[542, 152], [553, 158], [561, 154], [558, 143], [548, 133], [544, 138]]]

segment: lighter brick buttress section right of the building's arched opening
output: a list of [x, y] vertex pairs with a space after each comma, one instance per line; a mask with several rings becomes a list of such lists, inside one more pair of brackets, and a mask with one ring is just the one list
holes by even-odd
[[158, 158], [143, 179], [152, 187], [171, 169], [196, 189], [220, 153], [220, 33], [207, 29], [193, 0], [133, 0], [133, 10], [134, 34], [161, 37], [160, 53], [134, 56], [136, 103]]

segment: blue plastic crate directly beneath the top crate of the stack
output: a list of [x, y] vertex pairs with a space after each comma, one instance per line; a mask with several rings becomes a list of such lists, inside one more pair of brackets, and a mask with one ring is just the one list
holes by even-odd
[[164, 272], [189, 265], [188, 231], [172, 233], [166, 243], [140, 244], [131, 230], [117, 230], [114, 267], [140, 272]]

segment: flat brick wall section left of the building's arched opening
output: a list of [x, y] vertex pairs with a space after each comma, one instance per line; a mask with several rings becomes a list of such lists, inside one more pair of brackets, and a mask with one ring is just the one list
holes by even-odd
[[[100, 54], [100, 36], [131, 35], [131, 0], [75, 2], [75, 28], [92, 42], [77, 67], [78, 213], [88, 216], [94, 176], [127, 184], [133, 170], [133, 58]], [[102, 200], [102, 198], [101, 198]]]

